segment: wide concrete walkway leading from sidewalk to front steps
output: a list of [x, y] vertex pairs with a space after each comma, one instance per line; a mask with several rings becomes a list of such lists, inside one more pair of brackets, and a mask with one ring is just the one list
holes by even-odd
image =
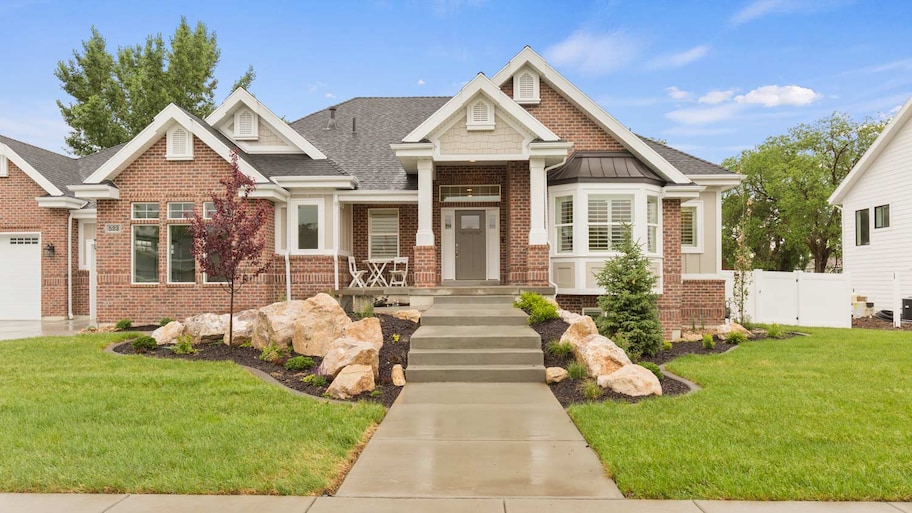
[[336, 497], [623, 496], [544, 383], [409, 383]]

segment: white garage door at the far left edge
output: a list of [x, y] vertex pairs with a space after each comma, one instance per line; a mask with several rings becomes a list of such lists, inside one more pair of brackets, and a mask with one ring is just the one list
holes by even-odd
[[41, 319], [41, 244], [36, 233], [0, 233], [0, 319]]

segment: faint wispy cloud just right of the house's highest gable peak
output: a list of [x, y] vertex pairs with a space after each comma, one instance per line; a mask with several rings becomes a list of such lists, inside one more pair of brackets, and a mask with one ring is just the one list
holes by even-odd
[[578, 30], [545, 51], [545, 58], [557, 66], [574, 68], [589, 75], [604, 75], [621, 69], [640, 53], [641, 43], [623, 32], [592, 34]]

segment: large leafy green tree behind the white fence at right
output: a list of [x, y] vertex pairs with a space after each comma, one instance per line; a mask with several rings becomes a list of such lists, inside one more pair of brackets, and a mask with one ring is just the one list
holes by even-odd
[[722, 203], [725, 260], [734, 261], [740, 225], [754, 267], [793, 271], [813, 261], [815, 272], [825, 272], [830, 258], [842, 255], [840, 212], [827, 198], [885, 124], [833, 113], [725, 160], [723, 166], [745, 175]]

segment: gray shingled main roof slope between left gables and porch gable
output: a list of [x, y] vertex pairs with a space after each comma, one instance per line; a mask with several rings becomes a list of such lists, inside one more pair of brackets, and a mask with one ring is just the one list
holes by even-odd
[[[353, 98], [336, 105], [336, 128], [327, 130], [329, 109], [291, 123], [311, 144], [359, 180], [359, 189], [416, 190], [389, 145], [437, 111], [449, 97]], [[352, 132], [352, 118], [356, 120]]]

